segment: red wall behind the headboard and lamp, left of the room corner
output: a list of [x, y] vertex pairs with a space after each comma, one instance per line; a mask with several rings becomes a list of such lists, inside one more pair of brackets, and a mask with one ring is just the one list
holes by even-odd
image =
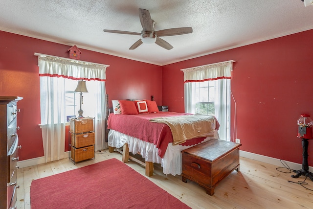
[[[0, 95], [22, 96], [18, 102], [20, 160], [44, 156], [40, 124], [40, 89], [38, 57], [35, 52], [68, 57], [71, 46], [0, 31]], [[162, 68], [160, 66], [111, 56], [80, 48], [80, 59], [110, 65], [107, 68], [106, 90], [109, 106], [112, 99], [150, 99], [161, 104]], [[68, 141], [68, 139], [66, 139]], [[66, 146], [66, 150], [67, 150]]]

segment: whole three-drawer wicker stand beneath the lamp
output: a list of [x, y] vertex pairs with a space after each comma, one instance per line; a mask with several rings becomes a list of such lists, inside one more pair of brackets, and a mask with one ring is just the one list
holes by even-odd
[[73, 163], [94, 158], [94, 126], [92, 117], [70, 118], [70, 153]]

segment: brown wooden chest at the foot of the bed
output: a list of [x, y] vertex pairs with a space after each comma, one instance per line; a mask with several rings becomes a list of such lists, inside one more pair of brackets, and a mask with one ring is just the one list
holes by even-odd
[[239, 171], [239, 147], [241, 144], [212, 139], [182, 150], [182, 181], [198, 183], [209, 195], [233, 170]]

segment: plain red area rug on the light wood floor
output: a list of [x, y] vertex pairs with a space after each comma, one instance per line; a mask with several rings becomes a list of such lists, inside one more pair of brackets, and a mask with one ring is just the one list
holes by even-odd
[[32, 209], [190, 209], [114, 158], [32, 181], [30, 204]]

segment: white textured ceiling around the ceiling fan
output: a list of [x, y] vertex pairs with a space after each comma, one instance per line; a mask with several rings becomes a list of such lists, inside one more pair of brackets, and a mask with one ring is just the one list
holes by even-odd
[[[140, 36], [103, 32], [140, 33], [138, 8], [150, 11], [156, 30], [192, 27], [193, 33], [162, 37], [171, 50], [156, 44], [129, 50]], [[161, 66], [309, 29], [313, 6], [301, 0], [0, 1], [2, 31]]]

